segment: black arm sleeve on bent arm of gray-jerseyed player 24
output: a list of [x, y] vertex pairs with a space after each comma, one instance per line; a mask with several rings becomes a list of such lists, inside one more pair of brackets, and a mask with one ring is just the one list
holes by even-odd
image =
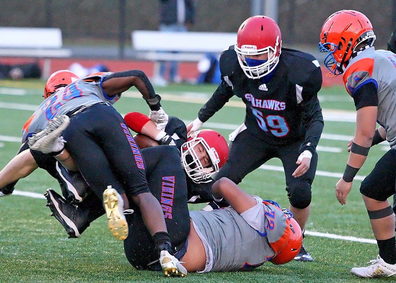
[[123, 72], [116, 72], [112, 73], [111, 75], [105, 77], [103, 79], [103, 82], [110, 80], [110, 78], [123, 78], [123, 77], [128, 77], [128, 76], [136, 76], [140, 78], [143, 83], [145, 84], [146, 91], [148, 93], [149, 98], [143, 98], [146, 100], [148, 106], [150, 106], [151, 110], [158, 111], [161, 107], [160, 100], [161, 97], [155, 93], [154, 88], [148, 79], [147, 75], [140, 70], [130, 70], [130, 71], [123, 71]]

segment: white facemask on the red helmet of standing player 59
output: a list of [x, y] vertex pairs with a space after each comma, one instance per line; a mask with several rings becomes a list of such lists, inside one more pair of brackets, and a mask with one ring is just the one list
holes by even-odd
[[[281, 53], [281, 45], [282, 41], [280, 40], [279, 36], [276, 38], [275, 46], [267, 46], [265, 48], [257, 50], [257, 46], [255, 45], [242, 45], [241, 48], [235, 44], [234, 49], [238, 54], [238, 62], [241, 66], [242, 70], [244, 71], [245, 75], [248, 78], [261, 78], [265, 75], [271, 73], [276, 65], [279, 63], [279, 55]], [[268, 60], [265, 61], [263, 64], [258, 66], [250, 67], [246, 63], [246, 55], [261, 55], [267, 54]]]

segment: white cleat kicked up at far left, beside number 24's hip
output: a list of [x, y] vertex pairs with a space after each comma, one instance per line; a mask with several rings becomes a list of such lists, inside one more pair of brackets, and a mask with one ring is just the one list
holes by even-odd
[[65, 147], [65, 140], [61, 136], [63, 130], [69, 126], [70, 118], [66, 115], [57, 115], [49, 120], [46, 128], [28, 138], [31, 149], [42, 153], [59, 152]]

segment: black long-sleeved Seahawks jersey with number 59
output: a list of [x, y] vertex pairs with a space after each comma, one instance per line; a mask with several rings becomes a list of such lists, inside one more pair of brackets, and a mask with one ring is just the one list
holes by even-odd
[[273, 145], [301, 140], [301, 152], [315, 151], [323, 130], [317, 98], [322, 72], [312, 55], [282, 48], [278, 66], [267, 81], [266, 76], [247, 78], [230, 46], [221, 54], [220, 71], [221, 84], [198, 113], [202, 122], [235, 95], [246, 104], [245, 124], [255, 136]]

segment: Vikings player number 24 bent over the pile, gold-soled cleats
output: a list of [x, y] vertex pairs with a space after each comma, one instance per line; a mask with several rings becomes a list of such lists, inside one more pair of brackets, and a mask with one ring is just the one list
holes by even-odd
[[[131, 70], [77, 80], [57, 90], [25, 124], [23, 140], [28, 138], [30, 147], [51, 155], [61, 154], [64, 147], [67, 149], [89, 188], [103, 200], [110, 231], [117, 239], [127, 237], [124, 209], [128, 209], [129, 201], [136, 203], [161, 262], [170, 258], [170, 264], [178, 266], [172, 256], [160, 203], [147, 185], [139, 147], [121, 115], [112, 107], [121, 93], [132, 86], [141, 92], [150, 107], [152, 120], [162, 128], [168, 115], [162, 110], [160, 97], [145, 73]], [[68, 143], [65, 144], [60, 133]], [[49, 136], [54, 140], [44, 141]], [[126, 197], [122, 198], [120, 195], [124, 193]]]

